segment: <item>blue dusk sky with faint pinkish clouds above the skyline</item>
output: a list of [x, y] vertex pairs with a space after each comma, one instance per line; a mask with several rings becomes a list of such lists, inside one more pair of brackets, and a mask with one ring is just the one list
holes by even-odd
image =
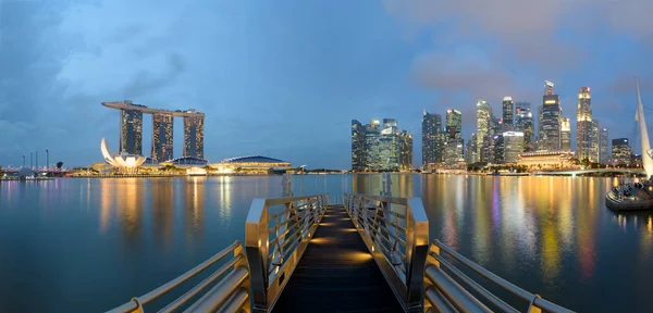
[[[119, 140], [119, 112], [100, 102], [132, 100], [205, 112], [211, 162], [350, 168], [350, 121], [394, 117], [419, 166], [423, 110], [460, 110], [468, 140], [477, 97], [495, 114], [504, 96], [537, 112], [545, 79], [574, 150], [581, 86], [611, 139], [632, 137], [634, 75], [653, 105], [651, 12], [637, 0], [0, 0], [0, 164], [36, 150], [42, 164], [46, 148], [66, 166], [100, 162], [101, 138]], [[144, 128], [149, 155], [151, 115]]]

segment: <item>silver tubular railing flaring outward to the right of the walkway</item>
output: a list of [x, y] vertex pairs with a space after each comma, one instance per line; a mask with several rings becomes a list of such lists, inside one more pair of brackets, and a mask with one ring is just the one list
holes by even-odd
[[[448, 256], [443, 258], [443, 255]], [[460, 268], [454, 266], [447, 259], [461, 263], [495, 286], [523, 300], [523, 310], [515, 309], [490, 292], [481, 284], [463, 273]], [[446, 247], [440, 240], [433, 240], [429, 248], [424, 272], [427, 278], [424, 279], [424, 298], [427, 300], [424, 301], [424, 312], [572, 312], [510, 284]], [[465, 284], [468, 289], [460, 286], [458, 281]], [[478, 295], [482, 301], [468, 290]], [[490, 304], [492, 310], [486, 304]]]

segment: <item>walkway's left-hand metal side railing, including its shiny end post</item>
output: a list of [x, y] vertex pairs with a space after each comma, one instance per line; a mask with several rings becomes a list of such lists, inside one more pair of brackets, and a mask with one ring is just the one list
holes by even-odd
[[318, 228], [326, 202], [326, 195], [251, 201], [245, 250], [251, 268], [252, 311], [272, 310]]

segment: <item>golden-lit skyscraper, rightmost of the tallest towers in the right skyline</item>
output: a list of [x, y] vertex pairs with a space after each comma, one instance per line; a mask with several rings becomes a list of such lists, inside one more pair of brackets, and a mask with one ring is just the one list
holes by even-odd
[[578, 160], [594, 161], [592, 153], [592, 96], [590, 87], [578, 90], [578, 109], [576, 111], [576, 153]]

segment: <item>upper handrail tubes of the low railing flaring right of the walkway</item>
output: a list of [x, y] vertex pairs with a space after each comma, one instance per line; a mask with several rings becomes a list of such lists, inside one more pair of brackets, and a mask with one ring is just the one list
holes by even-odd
[[[490, 293], [488, 290], [485, 290], [483, 287], [481, 287], [480, 285], [478, 285], [477, 281], [473, 281], [472, 279], [470, 279], [469, 277], [467, 277], [465, 274], [463, 274], [458, 268], [456, 268], [455, 266], [453, 266], [451, 263], [448, 263], [446, 260], [442, 259], [441, 251], [446, 252], [448, 255], [451, 255], [452, 258], [454, 258], [455, 260], [457, 260], [458, 262], [463, 263], [465, 266], [467, 266], [468, 268], [472, 270], [473, 272], [480, 274], [481, 276], [483, 276], [484, 278], [486, 278], [488, 280], [494, 283], [495, 285], [497, 285], [498, 287], [503, 288], [506, 291], [509, 291], [510, 293], [519, 297], [520, 299], [528, 301], [529, 305], [531, 306], [537, 306], [538, 309], [544, 311], [544, 312], [560, 312], [560, 313], [570, 313], [574, 311], [570, 311], [564, 306], [560, 306], [558, 304], [555, 304], [549, 300], [544, 300], [542, 299], [539, 295], [534, 295], [531, 293], [518, 286], [516, 286], [515, 284], [500, 277], [498, 275], [490, 272], [489, 270], [482, 267], [481, 265], [470, 261], [469, 259], [465, 258], [463, 254], [454, 251], [453, 249], [451, 249], [449, 247], [447, 247], [446, 245], [444, 245], [442, 241], [435, 239], [433, 240], [432, 245], [436, 248], [436, 249], [430, 249], [431, 251], [435, 251], [435, 252], [431, 252], [430, 256], [435, 259], [435, 266], [436, 267], [441, 267], [441, 265], [444, 265], [445, 268], [449, 270], [455, 276], [457, 276], [458, 278], [460, 278], [463, 281], [465, 281], [466, 284], [470, 285], [470, 287], [472, 289], [476, 289], [479, 293], [481, 293], [483, 297], [485, 297], [485, 299], [488, 299], [490, 302], [494, 303], [495, 305], [500, 306], [502, 310], [506, 311], [506, 312], [518, 312], [517, 310], [515, 310], [514, 308], [509, 306], [508, 304], [506, 304], [505, 302], [503, 302], [503, 300], [498, 299], [496, 296]], [[430, 265], [428, 265], [430, 266]], [[427, 268], [427, 271], [429, 271], [429, 268]], [[432, 279], [431, 279], [432, 280]], [[433, 281], [431, 281], [433, 283]], [[461, 288], [461, 287], [460, 287]], [[529, 306], [529, 311], [530, 311], [530, 306]]]

